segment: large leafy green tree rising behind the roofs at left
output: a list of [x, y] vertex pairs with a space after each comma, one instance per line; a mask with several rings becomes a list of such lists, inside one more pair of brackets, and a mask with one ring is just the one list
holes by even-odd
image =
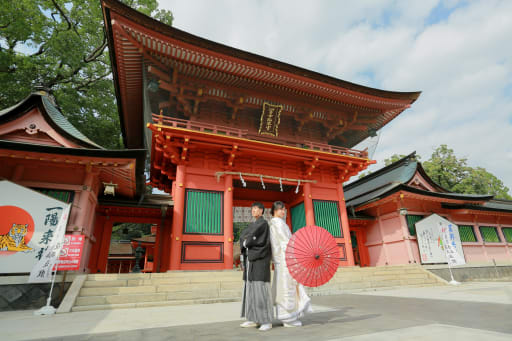
[[[172, 24], [172, 13], [159, 10], [157, 0], [122, 1]], [[122, 148], [98, 0], [2, 0], [0, 84], [0, 108], [44, 86], [81, 132], [106, 148]]]

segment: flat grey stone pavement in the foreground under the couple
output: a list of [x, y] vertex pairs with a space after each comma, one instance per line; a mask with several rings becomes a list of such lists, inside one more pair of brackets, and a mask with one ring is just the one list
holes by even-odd
[[301, 328], [242, 329], [240, 303], [0, 313], [2, 340], [512, 340], [512, 282], [313, 297]]

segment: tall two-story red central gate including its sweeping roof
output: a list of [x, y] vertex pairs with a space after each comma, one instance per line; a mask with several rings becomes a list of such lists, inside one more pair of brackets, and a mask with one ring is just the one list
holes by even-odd
[[[270, 208], [276, 200], [286, 204], [293, 231], [326, 228], [340, 264], [354, 265], [351, 232], [364, 245], [363, 225], [353, 217], [351, 227], [343, 183], [373, 161], [352, 148], [420, 93], [373, 89], [241, 51], [115, 0], [102, 8], [125, 146], [150, 151], [149, 183], [174, 203], [156, 236], [155, 271], [231, 269], [234, 223], [248, 220], [252, 202]], [[105, 245], [111, 221], [102, 213], [95, 224]], [[100, 249], [91, 272], [104, 271]]]

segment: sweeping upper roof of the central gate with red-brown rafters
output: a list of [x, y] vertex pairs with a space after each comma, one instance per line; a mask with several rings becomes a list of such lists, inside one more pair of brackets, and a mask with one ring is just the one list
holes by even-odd
[[[143, 146], [144, 63], [176, 69], [188, 78], [208, 82], [218, 87], [219, 91], [212, 93], [221, 97], [224, 87], [238, 87], [315, 103], [311, 118], [325, 119], [328, 110], [331, 118], [340, 113], [339, 119], [345, 121], [340, 131], [345, 134], [346, 147], [368, 137], [369, 130], [382, 128], [420, 95], [354, 84], [219, 44], [165, 25], [117, 0], [102, 0], [102, 6], [121, 129], [129, 148]], [[244, 100], [261, 104], [264, 99], [253, 96]], [[293, 103], [285, 109], [291, 113], [299, 110]]]

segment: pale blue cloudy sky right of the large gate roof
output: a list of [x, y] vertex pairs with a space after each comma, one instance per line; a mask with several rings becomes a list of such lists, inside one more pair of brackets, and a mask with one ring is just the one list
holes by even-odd
[[[391, 91], [422, 91], [373, 158], [441, 144], [512, 189], [512, 1], [159, 0], [173, 26]], [[512, 190], [509, 191], [512, 193]]]

